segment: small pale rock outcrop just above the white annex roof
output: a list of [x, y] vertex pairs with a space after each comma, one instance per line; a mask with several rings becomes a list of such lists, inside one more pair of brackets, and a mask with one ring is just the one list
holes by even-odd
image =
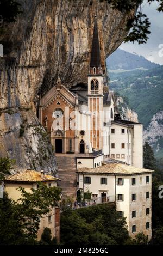
[[138, 122], [137, 113], [128, 107], [127, 103], [123, 101], [123, 97], [118, 96], [116, 101], [122, 119]]

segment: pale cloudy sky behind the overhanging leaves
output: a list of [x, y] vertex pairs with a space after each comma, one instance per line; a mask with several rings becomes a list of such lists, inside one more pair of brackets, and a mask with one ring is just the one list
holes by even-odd
[[151, 62], [163, 65], [163, 13], [156, 11], [158, 3], [154, 1], [149, 5], [147, 0], [142, 4], [143, 13], [147, 15], [151, 22], [151, 34], [147, 44], [138, 45], [137, 42], [122, 44], [120, 48], [130, 53], [144, 56]]

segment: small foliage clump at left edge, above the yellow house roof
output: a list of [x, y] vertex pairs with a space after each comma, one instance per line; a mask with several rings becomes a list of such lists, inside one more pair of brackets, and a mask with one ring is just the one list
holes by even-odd
[[0, 182], [4, 180], [5, 175], [9, 175], [15, 160], [8, 157], [0, 158]]

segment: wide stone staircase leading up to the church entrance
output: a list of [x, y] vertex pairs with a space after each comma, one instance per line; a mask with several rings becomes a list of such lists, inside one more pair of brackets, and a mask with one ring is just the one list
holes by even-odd
[[63, 198], [66, 196], [76, 198], [76, 158], [67, 154], [56, 154], [56, 158], [58, 177], [61, 179], [59, 186], [62, 188]]

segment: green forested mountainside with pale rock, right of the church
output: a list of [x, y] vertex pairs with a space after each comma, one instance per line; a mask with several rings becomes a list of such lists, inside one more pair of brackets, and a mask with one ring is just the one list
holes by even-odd
[[144, 139], [152, 145], [155, 156], [163, 155], [163, 66], [151, 70], [109, 72], [110, 89], [123, 97], [143, 123]]

